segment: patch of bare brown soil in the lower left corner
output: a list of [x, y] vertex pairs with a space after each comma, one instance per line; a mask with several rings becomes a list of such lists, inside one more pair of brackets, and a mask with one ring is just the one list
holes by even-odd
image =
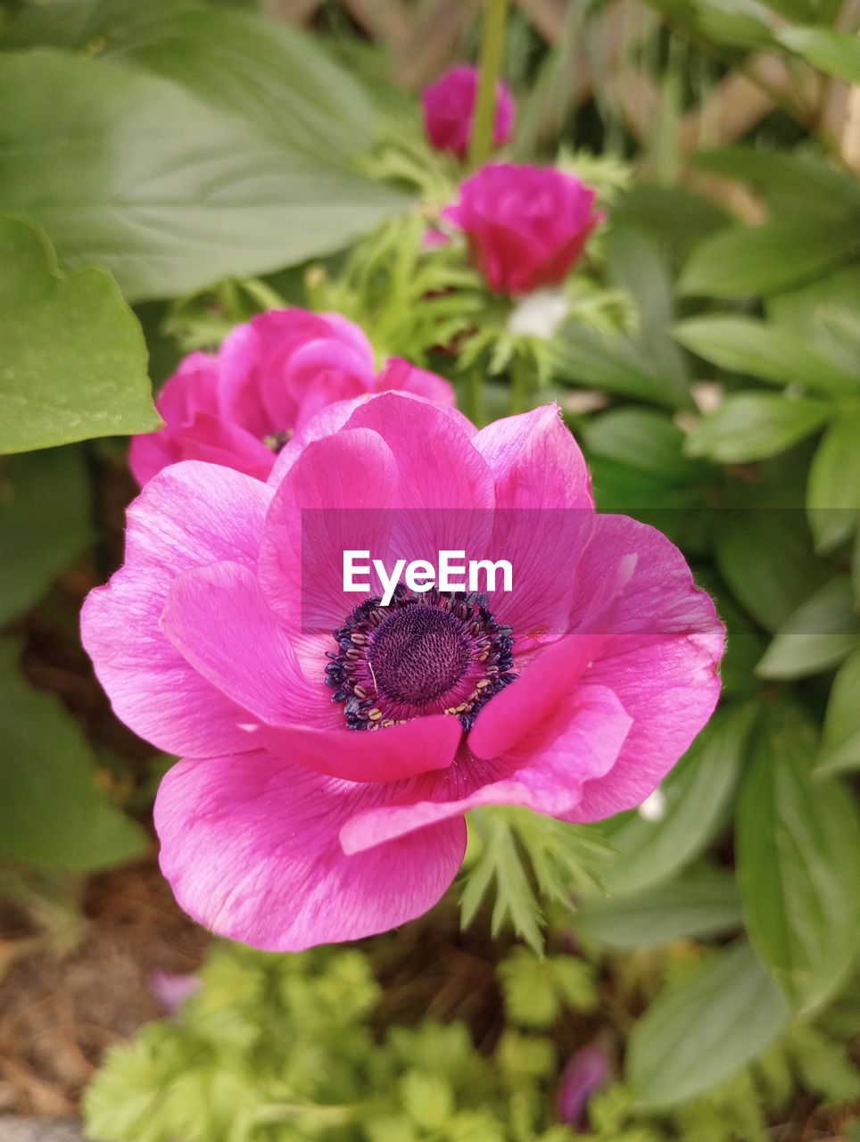
[[152, 859], [94, 877], [83, 912], [82, 939], [62, 952], [0, 910], [0, 1111], [74, 1113], [105, 1048], [162, 1014], [151, 973], [194, 971], [208, 942]]

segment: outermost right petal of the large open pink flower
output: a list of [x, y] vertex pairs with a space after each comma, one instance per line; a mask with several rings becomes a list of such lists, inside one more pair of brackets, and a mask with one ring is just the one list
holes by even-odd
[[587, 678], [611, 687], [634, 724], [612, 772], [586, 786], [572, 818], [579, 821], [632, 809], [653, 793], [714, 710], [724, 645], [714, 603], [693, 585], [681, 552], [635, 520], [597, 518], [579, 569], [584, 597], [598, 589], [620, 553], [637, 557], [611, 619], [580, 620], [581, 629], [606, 633]]

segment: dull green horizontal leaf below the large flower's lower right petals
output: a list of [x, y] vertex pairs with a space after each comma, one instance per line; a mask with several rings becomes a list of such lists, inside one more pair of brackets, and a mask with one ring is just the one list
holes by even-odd
[[576, 916], [580, 935], [617, 951], [701, 940], [741, 926], [734, 878], [718, 869], [606, 900], [589, 898], [580, 902]]

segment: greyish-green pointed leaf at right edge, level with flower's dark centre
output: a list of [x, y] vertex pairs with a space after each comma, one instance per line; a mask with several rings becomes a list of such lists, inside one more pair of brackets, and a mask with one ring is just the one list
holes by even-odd
[[860, 644], [847, 578], [831, 579], [788, 617], [756, 667], [762, 678], [803, 678], [836, 666]]

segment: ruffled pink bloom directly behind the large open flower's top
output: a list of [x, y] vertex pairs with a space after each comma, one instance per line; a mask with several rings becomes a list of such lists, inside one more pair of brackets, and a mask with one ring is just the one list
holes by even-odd
[[395, 387], [453, 404], [447, 380], [399, 357], [377, 376], [370, 341], [346, 317], [274, 309], [234, 329], [217, 356], [185, 357], [156, 401], [164, 427], [131, 441], [131, 472], [143, 485], [168, 464], [209, 460], [266, 480], [320, 409]]

